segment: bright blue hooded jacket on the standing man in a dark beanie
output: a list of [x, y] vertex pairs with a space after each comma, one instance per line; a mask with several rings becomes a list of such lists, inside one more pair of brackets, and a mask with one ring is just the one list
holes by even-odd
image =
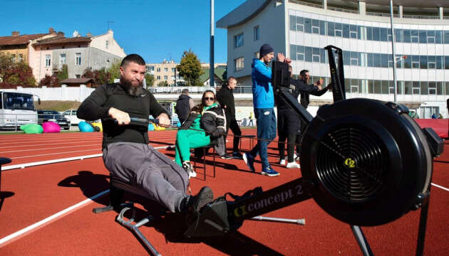
[[252, 101], [254, 108], [274, 108], [272, 68], [262, 60], [252, 60]]

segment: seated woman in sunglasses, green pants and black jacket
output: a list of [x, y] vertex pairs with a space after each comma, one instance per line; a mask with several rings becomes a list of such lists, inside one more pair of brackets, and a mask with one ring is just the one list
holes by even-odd
[[192, 108], [176, 134], [176, 163], [187, 171], [189, 177], [195, 177], [196, 173], [190, 164], [190, 149], [214, 143], [225, 133], [224, 110], [217, 104], [215, 93], [207, 90], [202, 94], [201, 104]]

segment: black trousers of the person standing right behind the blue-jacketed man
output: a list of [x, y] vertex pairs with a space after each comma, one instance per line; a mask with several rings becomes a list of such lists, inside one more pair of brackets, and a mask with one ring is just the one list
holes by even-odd
[[277, 110], [279, 159], [285, 159], [285, 140], [287, 139], [288, 161], [294, 161], [294, 146], [299, 138], [300, 121], [298, 114], [291, 109]]

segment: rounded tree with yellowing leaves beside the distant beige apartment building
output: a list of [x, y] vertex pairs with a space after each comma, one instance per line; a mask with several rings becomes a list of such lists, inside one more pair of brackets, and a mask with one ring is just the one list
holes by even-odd
[[192, 50], [185, 51], [182, 54], [180, 65], [176, 67], [180, 76], [184, 78], [189, 86], [201, 86], [200, 75], [204, 73], [201, 70], [201, 63], [197, 55]]

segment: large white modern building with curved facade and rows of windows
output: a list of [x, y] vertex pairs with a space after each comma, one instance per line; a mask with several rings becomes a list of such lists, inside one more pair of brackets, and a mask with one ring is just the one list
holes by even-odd
[[[294, 74], [310, 70], [329, 81], [325, 46], [344, 50], [346, 96], [397, 102], [421, 118], [448, 118], [449, 1], [393, 0], [396, 58], [392, 55], [389, 0], [248, 0], [217, 21], [227, 29], [228, 76], [251, 86], [251, 63], [264, 43], [291, 58]], [[394, 59], [394, 61], [393, 61]], [[331, 93], [311, 97], [311, 112]]]

